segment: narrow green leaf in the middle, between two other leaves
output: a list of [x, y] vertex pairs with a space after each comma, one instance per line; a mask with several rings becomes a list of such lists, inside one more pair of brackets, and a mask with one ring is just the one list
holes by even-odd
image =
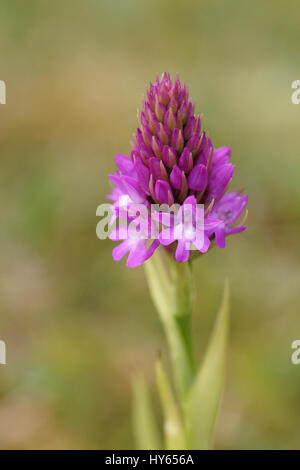
[[170, 387], [162, 362], [156, 364], [157, 386], [164, 413], [164, 435], [166, 449], [185, 450], [185, 435], [180, 411]]

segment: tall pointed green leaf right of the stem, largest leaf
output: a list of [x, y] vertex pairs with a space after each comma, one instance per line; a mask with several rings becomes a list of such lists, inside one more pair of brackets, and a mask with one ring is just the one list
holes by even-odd
[[217, 412], [225, 380], [225, 352], [229, 319], [229, 289], [222, 305], [204, 361], [188, 396], [185, 416], [189, 449], [211, 449]]

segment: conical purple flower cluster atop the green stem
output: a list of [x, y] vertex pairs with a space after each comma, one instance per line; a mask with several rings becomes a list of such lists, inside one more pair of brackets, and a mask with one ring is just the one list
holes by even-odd
[[[178, 76], [173, 82], [164, 73], [150, 84], [138, 117], [140, 127], [131, 156], [116, 155], [119, 170], [110, 175], [116, 186], [109, 196], [114, 202], [114, 220], [125, 205], [130, 213], [131, 204], [143, 204], [151, 218], [153, 204], [175, 203], [180, 209], [188, 204], [195, 214], [202, 204], [204, 238], [201, 246], [197, 246], [195, 233], [176, 237], [169, 230], [166, 236], [161, 227], [161, 233], [149, 246], [148, 232], [141, 233], [140, 238], [130, 238], [121, 236], [124, 230], [118, 229], [113, 231], [111, 239], [123, 241], [114, 249], [114, 259], [119, 260], [129, 252], [127, 265], [137, 266], [159, 245], [164, 245], [177, 261], [184, 262], [190, 256], [190, 249], [206, 252], [213, 239], [223, 248], [227, 235], [246, 228], [244, 223], [235, 227], [233, 224], [244, 211], [247, 196], [240, 192], [226, 193], [234, 172], [234, 166], [229, 163], [231, 149], [214, 149], [207, 132], [202, 130], [202, 117], [195, 114], [188, 88], [181, 86]], [[186, 223], [195, 227], [194, 222]], [[185, 233], [191, 233], [189, 228]]]

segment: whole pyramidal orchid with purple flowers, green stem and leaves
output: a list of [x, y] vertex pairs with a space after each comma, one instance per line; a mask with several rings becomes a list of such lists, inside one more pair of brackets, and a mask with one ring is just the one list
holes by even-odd
[[[195, 367], [191, 314], [195, 288], [192, 261], [212, 244], [245, 230], [247, 196], [229, 192], [234, 165], [229, 147], [215, 148], [195, 113], [186, 85], [167, 73], [150, 83], [138, 112], [129, 156], [115, 157], [113, 249], [127, 266], [144, 264], [152, 300], [169, 346], [173, 387], [161, 359], [157, 386], [164, 414], [164, 442], [147, 387], [134, 382], [134, 428], [142, 449], [209, 449], [225, 377], [229, 297], [226, 284], [214, 331]], [[238, 220], [242, 218], [242, 221]], [[189, 261], [189, 262], [188, 262]]]

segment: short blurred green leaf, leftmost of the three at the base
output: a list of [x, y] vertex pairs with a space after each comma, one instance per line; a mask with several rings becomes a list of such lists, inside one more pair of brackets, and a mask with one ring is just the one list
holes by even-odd
[[133, 380], [133, 430], [138, 449], [161, 449], [161, 436], [151, 408], [150, 395], [140, 376]]

